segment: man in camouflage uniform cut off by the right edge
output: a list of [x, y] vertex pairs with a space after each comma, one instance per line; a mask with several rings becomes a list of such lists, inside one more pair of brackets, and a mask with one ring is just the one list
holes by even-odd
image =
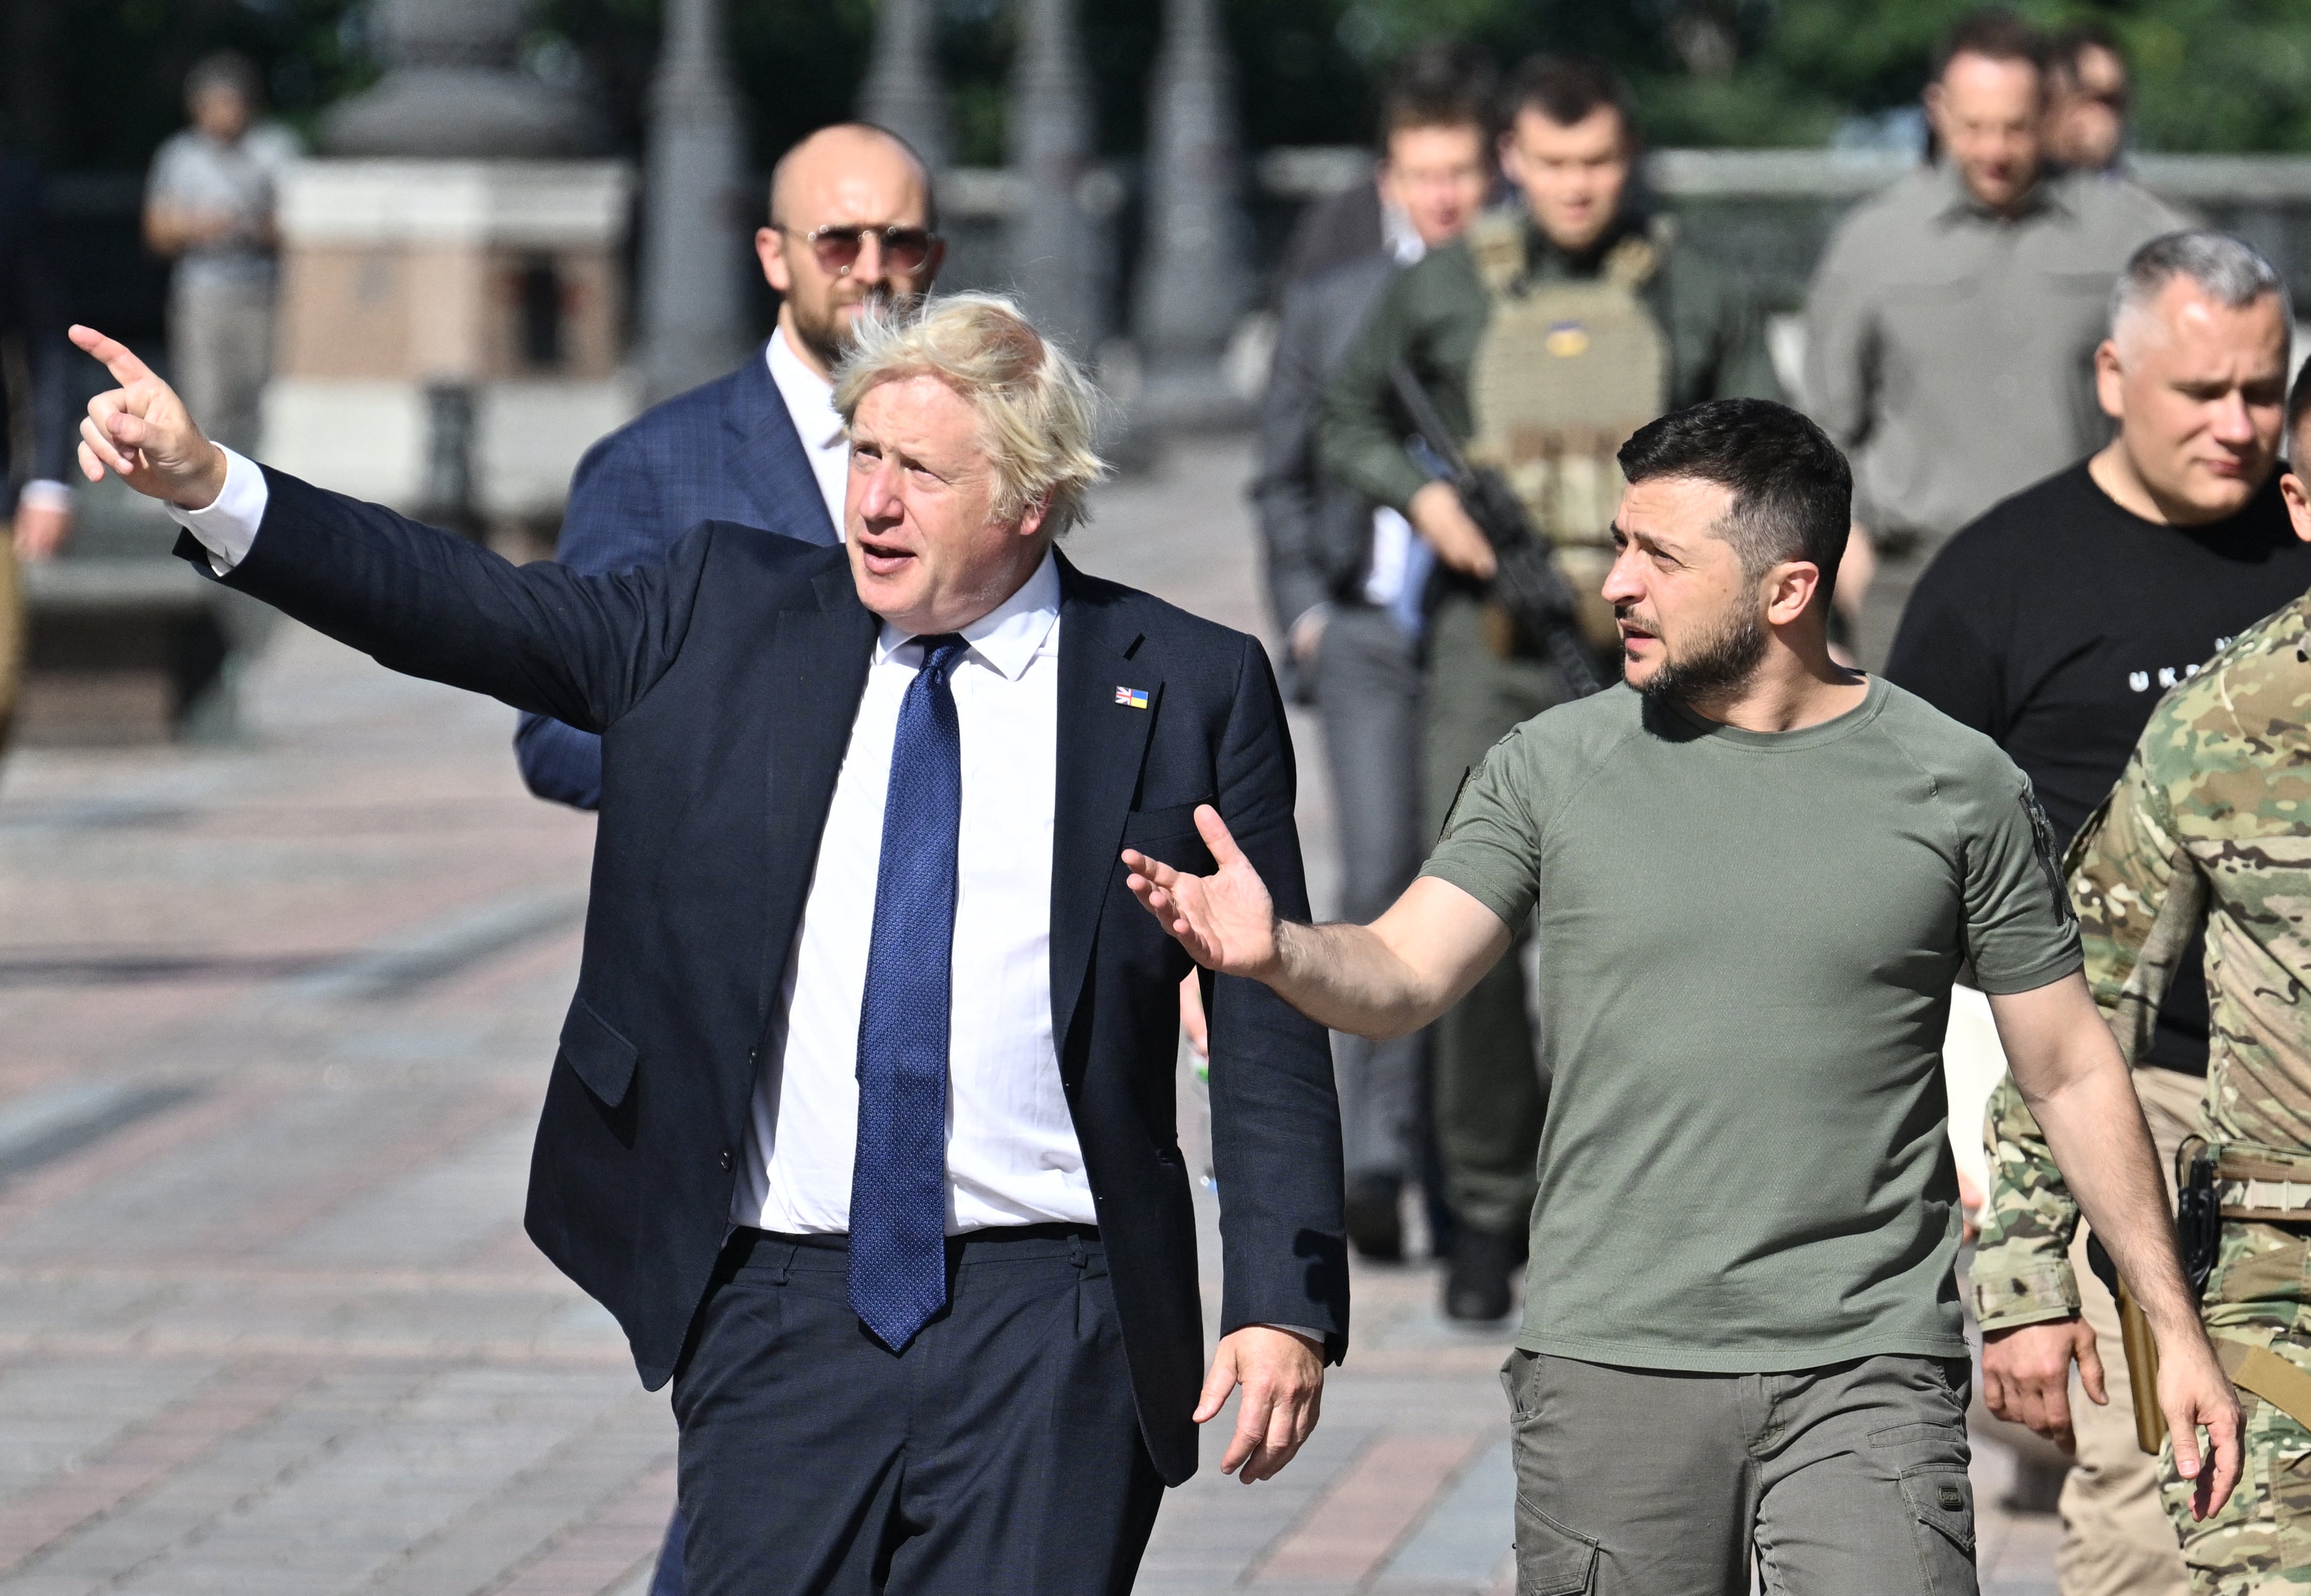
[[[2306, 411], [2297, 376], [2295, 457], [2311, 453]], [[2311, 487], [2288, 473], [2283, 490], [2311, 540]], [[2191, 1589], [2311, 1591], [2311, 596], [2168, 693], [2068, 862], [2087, 982], [2128, 1058], [2147, 1049], [2191, 933], [2207, 940], [2198, 1134], [2216, 1159], [2223, 1238], [2202, 1303], [2246, 1407], [2246, 1467], [2230, 1504], [2193, 1522], [2172, 1444], [2161, 1455]], [[1981, 1317], [2078, 1312], [2061, 1256], [2078, 1210], [2011, 1083], [1987, 1134]], [[2089, 1395], [2096, 1384], [2098, 1370]], [[2006, 1407], [1987, 1381], [1985, 1397]]]

